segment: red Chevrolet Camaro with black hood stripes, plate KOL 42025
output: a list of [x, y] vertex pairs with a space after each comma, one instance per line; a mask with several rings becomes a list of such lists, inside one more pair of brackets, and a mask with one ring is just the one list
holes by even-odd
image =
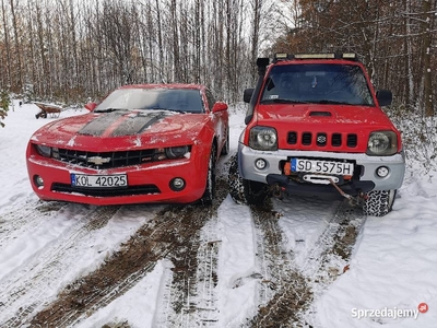
[[125, 85], [85, 115], [31, 138], [27, 171], [43, 200], [209, 204], [229, 151], [227, 105], [198, 84]]

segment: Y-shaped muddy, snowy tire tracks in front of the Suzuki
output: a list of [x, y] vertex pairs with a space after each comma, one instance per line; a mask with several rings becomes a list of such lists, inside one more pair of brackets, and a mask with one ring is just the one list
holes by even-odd
[[263, 254], [260, 257], [263, 280], [261, 306], [249, 326], [307, 326], [308, 317], [314, 321], [314, 300], [340, 274], [338, 257], [345, 263], [351, 255], [356, 234], [364, 223], [363, 215], [346, 200], [341, 202], [314, 245], [305, 251], [304, 262], [298, 263], [295, 253], [284, 251], [282, 230], [277, 224], [280, 215], [270, 207], [252, 207], [251, 210], [259, 230], [259, 251]]

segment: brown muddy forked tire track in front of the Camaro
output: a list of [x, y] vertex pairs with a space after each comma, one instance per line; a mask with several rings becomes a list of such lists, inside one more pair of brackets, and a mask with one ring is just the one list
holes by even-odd
[[[177, 309], [177, 316], [184, 317], [181, 309], [187, 304], [190, 306], [192, 290], [197, 285], [198, 248], [192, 245], [197, 245], [200, 229], [212, 212], [212, 208], [202, 206], [166, 207], [150, 224], [139, 229], [102, 267], [73, 282], [55, 302], [37, 313], [31, 326], [64, 327], [80, 323], [126, 293], [163, 258], [174, 261], [173, 284], [182, 286], [182, 290], [177, 300], [173, 297], [169, 303], [170, 307]], [[176, 280], [175, 276], [178, 276]]]

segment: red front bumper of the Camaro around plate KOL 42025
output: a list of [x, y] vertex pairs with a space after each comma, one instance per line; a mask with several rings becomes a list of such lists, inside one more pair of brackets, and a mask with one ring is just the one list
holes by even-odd
[[[27, 171], [32, 188], [43, 200], [95, 206], [127, 203], [190, 203], [199, 200], [206, 185], [209, 154], [133, 165], [111, 169], [91, 169], [27, 151]], [[75, 187], [71, 174], [113, 176], [126, 174], [126, 187]], [[175, 178], [185, 187], [175, 190]], [[44, 184], [42, 185], [40, 181]], [[179, 180], [180, 181], [180, 180]]]

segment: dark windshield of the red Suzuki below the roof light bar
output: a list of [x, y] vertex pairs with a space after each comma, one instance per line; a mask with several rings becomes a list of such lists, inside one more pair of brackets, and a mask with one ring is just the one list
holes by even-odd
[[354, 65], [275, 66], [265, 80], [261, 103], [316, 103], [374, 106], [362, 69]]

